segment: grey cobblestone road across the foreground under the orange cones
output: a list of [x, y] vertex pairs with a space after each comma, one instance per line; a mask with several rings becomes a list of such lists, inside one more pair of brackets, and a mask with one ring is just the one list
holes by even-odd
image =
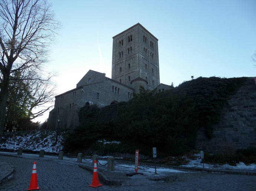
[[[13, 178], [0, 185], [1, 191], [24, 191], [29, 188], [33, 167], [32, 159], [0, 156], [15, 167]], [[41, 191], [73, 191], [73, 190], [103, 190], [103, 191], [255, 191], [256, 176], [186, 173], [180, 174], [174, 182], [137, 182], [136, 179], [122, 186], [103, 185], [91, 188], [92, 173], [79, 168], [76, 164], [60, 163], [53, 160], [36, 160], [38, 185]], [[136, 185], [136, 183], [138, 185]], [[132, 184], [132, 185], [131, 185]]]

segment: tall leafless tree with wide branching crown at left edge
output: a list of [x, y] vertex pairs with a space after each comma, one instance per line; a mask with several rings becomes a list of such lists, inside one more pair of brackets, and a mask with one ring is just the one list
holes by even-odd
[[47, 0], [0, 1], [0, 142], [11, 73], [40, 70], [60, 28], [50, 7]]

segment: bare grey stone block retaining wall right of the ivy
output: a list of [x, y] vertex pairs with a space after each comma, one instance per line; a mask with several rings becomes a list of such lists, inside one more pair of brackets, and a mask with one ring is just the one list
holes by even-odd
[[197, 149], [212, 153], [232, 153], [249, 146], [256, 146], [256, 86], [252, 77], [228, 100], [222, 120], [214, 126], [213, 138], [208, 139], [200, 129], [196, 144]]

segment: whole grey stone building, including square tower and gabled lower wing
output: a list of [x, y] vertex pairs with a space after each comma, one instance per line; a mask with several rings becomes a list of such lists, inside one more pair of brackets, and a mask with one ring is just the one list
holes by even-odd
[[157, 91], [172, 88], [160, 84], [158, 39], [137, 23], [113, 37], [112, 79], [89, 70], [76, 88], [55, 97], [47, 127], [57, 128], [59, 120], [60, 128], [73, 128], [79, 125], [79, 108], [128, 101], [140, 86]]

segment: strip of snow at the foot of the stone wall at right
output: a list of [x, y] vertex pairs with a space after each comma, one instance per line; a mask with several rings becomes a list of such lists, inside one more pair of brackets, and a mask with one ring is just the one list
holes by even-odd
[[205, 169], [216, 169], [216, 170], [256, 170], [255, 164], [249, 164], [246, 165], [243, 162], [239, 162], [236, 164], [236, 166], [232, 166], [229, 164], [206, 164], [201, 163], [202, 159], [200, 159], [200, 153], [194, 154], [194, 156], [197, 156], [197, 159], [195, 160], [189, 160], [189, 164], [186, 165], [180, 165], [183, 167], [195, 167], [195, 168], [205, 168]]

